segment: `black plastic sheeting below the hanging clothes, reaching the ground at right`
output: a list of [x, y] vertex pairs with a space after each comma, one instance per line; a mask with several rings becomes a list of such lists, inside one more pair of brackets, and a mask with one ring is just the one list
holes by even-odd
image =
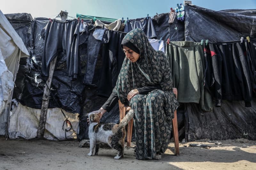
[[243, 101], [223, 100], [221, 107], [205, 113], [196, 104], [185, 106], [186, 141], [240, 137], [256, 140], [256, 99], [252, 101], [254, 107], [244, 107]]

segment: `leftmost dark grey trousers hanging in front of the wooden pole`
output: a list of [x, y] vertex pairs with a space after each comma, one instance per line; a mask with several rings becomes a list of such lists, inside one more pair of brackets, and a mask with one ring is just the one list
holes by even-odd
[[48, 77], [50, 63], [58, 55], [64, 52], [67, 56], [67, 67], [71, 80], [75, 80], [78, 74], [79, 56], [79, 22], [77, 19], [66, 22], [52, 20], [44, 27], [41, 36], [44, 39], [42, 56], [42, 75]]

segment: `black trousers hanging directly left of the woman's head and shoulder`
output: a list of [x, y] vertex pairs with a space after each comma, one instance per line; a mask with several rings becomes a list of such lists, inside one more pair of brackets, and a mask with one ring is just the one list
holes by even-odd
[[126, 33], [106, 30], [102, 42], [102, 68], [98, 94], [109, 97], [116, 85], [118, 74], [124, 62], [124, 51], [121, 42]]

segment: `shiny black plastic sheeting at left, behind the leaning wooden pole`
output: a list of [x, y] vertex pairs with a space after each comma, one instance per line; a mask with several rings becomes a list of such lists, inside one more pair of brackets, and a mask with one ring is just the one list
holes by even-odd
[[[44, 93], [44, 81], [41, 78], [40, 70], [44, 44], [41, 31], [49, 19], [35, 18], [35, 20], [30, 21], [25, 13], [17, 15], [15, 16], [13, 14], [8, 19], [10, 19], [16, 31], [21, 34], [22, 40], [27, 43], [26, 47], [30, 51], [30, 58], [21, 58], [20, 60], [20, 68], [15, 82], [16, 87], [14, 88], [13, 98], [19, 100], [23, 105], [40, 109]], [[9, 14], [6, 16], [9, 16]], [[16, 24], [17, 20], [22, 22]], [[83, 57], [85, 56], [81, 53], [83, 52], [83, 48], [86, 48], [86, 46], [81, 44], [79, 46], [79, 53], [82, 60], [82, 70], [85, 67], [85, 63], [83, 62]], [[51, 95], [48, 107], [61, 107], [71, 113], [81, 113], [82, 95], [85, 86], [82, 82], [83, 77], [84, 73], [76, 81], [70, 81], [67, 71], [66, 55], [60, 53], [57, 58], [51, 86], [55, 100], [53, 100]]]

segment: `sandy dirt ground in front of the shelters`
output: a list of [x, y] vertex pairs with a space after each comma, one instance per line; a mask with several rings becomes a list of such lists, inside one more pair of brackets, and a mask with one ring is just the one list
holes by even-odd
[[[0, 137], [0, 169], [256, 169], [256, 141], [209, 139], [180, 143], [180, 156], [174, 145], [161, 160], [137, 160], [133, 148], [125, 148], [124, 158], [115, 160], [116, 151], [100, 148], [98, 156], [87, 156], [88, 147], [78, 141], [5, 140]], [[189, 144], [208, 144], [194, 147]], [[133, 143], [134, 145], [134, 143]]]

